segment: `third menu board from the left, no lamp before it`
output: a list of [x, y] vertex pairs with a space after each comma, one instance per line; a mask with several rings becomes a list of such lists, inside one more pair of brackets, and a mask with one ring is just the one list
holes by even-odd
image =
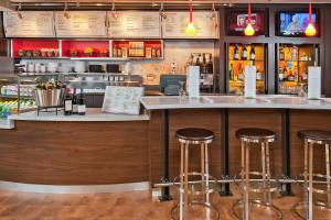
[[108, 36], [115, 38], [160, 38], [159, 12], [108, 12]]

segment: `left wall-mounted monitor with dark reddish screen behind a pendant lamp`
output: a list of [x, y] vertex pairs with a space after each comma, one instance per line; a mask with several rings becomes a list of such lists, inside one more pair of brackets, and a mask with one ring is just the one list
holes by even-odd
[[[226, 13], [226, 34], [231, 36], [244, 36], [245, 28], [248, 23], [247, 9], [231, 9]], [[255, 35], [268, 35], [268, 13], [265, 9], [252, 11], [250, 22], [255, 30]]]

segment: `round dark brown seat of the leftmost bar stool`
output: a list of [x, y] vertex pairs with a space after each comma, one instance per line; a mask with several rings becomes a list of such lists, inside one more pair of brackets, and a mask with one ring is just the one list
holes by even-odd
[[205, 142], [212, 141], [215, 135], [214, 132], [206, 129], [185, 128], [175, 132], [179, 141]]

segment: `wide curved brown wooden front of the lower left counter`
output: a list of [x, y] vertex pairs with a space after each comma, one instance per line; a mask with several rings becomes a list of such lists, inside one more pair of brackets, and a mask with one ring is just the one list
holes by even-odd
[[17, 121], [0, 130], [0, 180], [96, 185], [148, 180], [148, 121]]

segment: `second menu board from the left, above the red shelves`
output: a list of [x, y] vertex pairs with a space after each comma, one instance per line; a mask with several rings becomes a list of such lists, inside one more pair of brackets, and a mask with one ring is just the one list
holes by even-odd
[[57, 37], [106, 37], [106, 11], [56, 11]]

